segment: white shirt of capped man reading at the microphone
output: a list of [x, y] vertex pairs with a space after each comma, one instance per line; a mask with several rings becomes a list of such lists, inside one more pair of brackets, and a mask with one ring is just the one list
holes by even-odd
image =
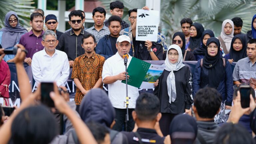
[[[131, 59], [132, 59], [132, 56], [129, 55], [127, 68], [130, 64]], [[124, 59], [122, 59], [117, 52], [115, 55], [113, 55], [112, 57], [108, 58], [105, 61], [103, 65], [103, 70], [102, 70], [102, 80], [104, 80], [104, 78], [106, 78], [107, 76], [115, 76], [120, 74], [121, 72], [125, 72]], [[131, 97], [131, 99], [129, 99], [128, 108], [135, 108], [136, 100], [138, 96], [139, 96], [138, 88], [128, 85], [128, 97]], [[113, 107], [119, 108], [119, 109], [125, 109], [126, 108], [126, 104], [124, 104], [124, 102], [126, 102], [125, 84], [122, 83], [121, 80], [117, 80], [112, 84], [108, 84], [108, 97]]]

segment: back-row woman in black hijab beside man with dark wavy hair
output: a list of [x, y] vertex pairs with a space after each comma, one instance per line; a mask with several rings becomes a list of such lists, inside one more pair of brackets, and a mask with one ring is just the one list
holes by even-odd
[[200, 23], [193, 23], [190, 25], [189, 33], [189, 46], [188, 50], [193, 51], [194, 49], [201, 47], [201, 37], [204, 32], [204, 27]]

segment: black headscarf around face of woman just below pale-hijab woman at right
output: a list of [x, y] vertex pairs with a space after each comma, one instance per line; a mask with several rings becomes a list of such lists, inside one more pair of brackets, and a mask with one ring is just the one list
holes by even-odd
[[[243, 47], [240, 51], [235, 51], [233, 48], [233, 43], [236, 40], [236, 38], [239, 38], [242, 41]], [[237, 62], [240, 59], [243, 59], [245, 57], [247, 57], [247, 53], [246, 53], [246, 41], [245, 41], [245, 37], [243, 35], [235, 35], [231, 41], [231, 46], [230, 46], [230, 59], [233, 59], [233, 62]]]

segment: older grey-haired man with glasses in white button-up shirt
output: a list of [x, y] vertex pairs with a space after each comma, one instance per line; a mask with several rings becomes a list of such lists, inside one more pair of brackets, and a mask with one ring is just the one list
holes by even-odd
[[46, 30], [42, 37], [44, 49], [35, 53], [32, 58], [32, 73], [36, 85], [40, 82], [56, 81], [57, 86], [65, 85], [69, 76], [69, 63], [67, 54], [56, 50], [57, 35]]

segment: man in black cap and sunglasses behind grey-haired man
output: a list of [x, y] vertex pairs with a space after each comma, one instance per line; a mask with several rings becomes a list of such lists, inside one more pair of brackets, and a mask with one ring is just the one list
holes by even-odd
[[57, 35], [57, 40], [59, 40], [60, 36], [63, 34], [63, 32], [57, 31], [56, 28], [58, 26], [57, 17], [53, 14], [49, 14], [45, 17], [45, 26], [48, 30], [52, 30]]

